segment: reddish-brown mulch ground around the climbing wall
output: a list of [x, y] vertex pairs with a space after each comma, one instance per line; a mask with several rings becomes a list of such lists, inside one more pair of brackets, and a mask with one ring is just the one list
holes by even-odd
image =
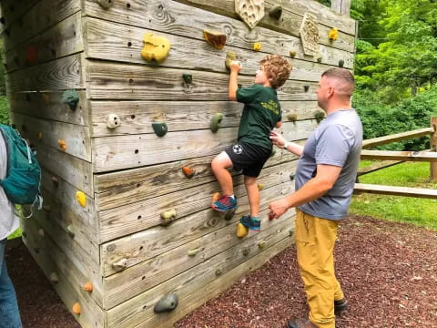
[[[337, 328], [437, 327], [436, 231], [351, 216], [340, 226], [335, 258], [350, 303]], [[6, 261], [25, 327], [78, 327], [25, 246], [9, 250]], [[307, 314], [290, 247], [176, 327], [281, 328]]]

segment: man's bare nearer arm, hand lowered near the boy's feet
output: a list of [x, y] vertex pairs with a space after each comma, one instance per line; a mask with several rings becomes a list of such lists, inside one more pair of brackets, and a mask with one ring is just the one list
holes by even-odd
[[341, 167], [324, 164], [318, 165], [317, 175], [313, 179], [308, 180], [300, 190], [293, 192], [281, 200], [273, 201], [269, 205], [269, 219], [278, 219], [292, 207], [317, 200], [332, 189], [335, 181], [337, 181], [340, 176], [340, 172]]

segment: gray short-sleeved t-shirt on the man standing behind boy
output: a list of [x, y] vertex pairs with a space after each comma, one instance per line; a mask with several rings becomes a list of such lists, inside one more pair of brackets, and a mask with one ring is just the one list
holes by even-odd
[[312, 216], [341, 220], [346, 217], [362, 145], [361, 120], [354, 109], [338, 110], [325, 118], [310, 135], [300, 156], [296, 172], [296, 190], [317, 173], [317, 165], [341, 167], [339, 179], [331, 190], [317, 200], [299, 207]]

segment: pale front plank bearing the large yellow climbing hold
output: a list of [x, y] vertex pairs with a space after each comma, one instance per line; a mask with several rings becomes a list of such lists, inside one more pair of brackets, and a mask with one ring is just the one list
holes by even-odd
[[[164, 36], [171, 43], [171, 50], [166, 61], [161, 64], [163, 67], [174, 67], [194, 70], [208, 70], [219, 73], [227, 73], [224, 65], [226, 53], [233, 51], [239, 56], [242, 63], [240, 74], [253, 76], [259, 68], [259, 61], [267, 53], [275, 50], [265, 48], [260, 52], [252, 49], [241, 49], [236, 46], [226, 46], [226, 49], [219, 51], [213, 46], [208, 45], [203, 39], [193, 39], [187, 36], [175, 36], [153, 30], [125, 26], [100, 19], [88, 18], [86, 20], [86, 56], [90, 58], [106, 59], [112, 61], [135, 63], [143, 65], [155, 64], [147, 63], [140, 52], [144, 46], [143, 36], [146, 33], [155, 33]], [[200, 35], [201, 36], [201, 35]], [[273, 36], [270, 36], [273, 37]], [[280, 42], [284, 42], [278, 36]], [[264, 44], [264, 40], [258, 40]], [[340, 59], [349, 58], [348, 66], [352, 64], [352, 54], [345, 53], [337, 55], [338, 51], [327, 49], [329, 64], [337, 66]], [[290, 56], [290, 52], [286, 54]], [[221, 62], [222, 65], [219, 63]], [[330, 66], [318, 62], [310, 62], [296, 58], [290, 58], [293, 67], [290, 78], [302, 81], [318, 82], [321, 74]], [[323, 60], [322, 60], [323, 63]]]

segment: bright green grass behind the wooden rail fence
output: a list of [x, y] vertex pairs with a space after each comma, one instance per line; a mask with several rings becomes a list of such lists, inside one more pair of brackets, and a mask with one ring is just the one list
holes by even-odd
[[[370, 165], [362, 161], [360, 167]], [[412, 188], [437, 189], [437, 181], [430, 178], [430, 164], [406, 162], [361, 176], [361, 183], [383, 184]], [[350, 212], [375, 218], [408, 222], [437, 231], [437, 200], [373, 194], [355, 195]]]

